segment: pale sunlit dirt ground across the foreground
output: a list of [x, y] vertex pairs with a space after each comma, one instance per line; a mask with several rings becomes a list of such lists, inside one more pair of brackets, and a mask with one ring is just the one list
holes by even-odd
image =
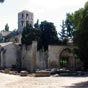
[[20, 77], [0, 73], [0, 88], [88, 88], [88, 77]]

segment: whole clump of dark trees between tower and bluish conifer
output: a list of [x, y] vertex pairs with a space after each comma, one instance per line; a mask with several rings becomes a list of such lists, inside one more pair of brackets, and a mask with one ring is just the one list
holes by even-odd
[[27, 25], [23, 29], [22, 44], [30, 45], [33, 40], [38, 41], [38, 50], [48, 50], [48, 45], [60, 44], [57, 36], [57, 31], [53, 23], [43, 21], [40, 24], [37, 23], [33, 28], [31, 25]]

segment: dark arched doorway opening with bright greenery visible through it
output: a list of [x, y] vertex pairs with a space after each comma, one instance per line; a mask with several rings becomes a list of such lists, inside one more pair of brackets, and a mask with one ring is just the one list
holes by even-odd
[[71, 49], [69, 48], [65, 48], [61, 51], [60, 56], [59, 56], [59, 68], [60, 69], [69, 69], [70, 53], [71, 53]]

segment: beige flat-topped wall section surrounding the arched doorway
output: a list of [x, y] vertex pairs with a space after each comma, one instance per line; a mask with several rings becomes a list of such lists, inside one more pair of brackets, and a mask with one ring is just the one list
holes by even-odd
[[70, 64], [69, 67], [73, 66], [73, 54], [72, 54], [72, 48], [73, 46], [49, 46], [49, 52], [48, 52], [48, 67], [49, 68], [60, 68], [60, 56], [61, 54], [63, 54], [63, 51], [68, 52], [69, 55], [69, 60], [70, 60]]

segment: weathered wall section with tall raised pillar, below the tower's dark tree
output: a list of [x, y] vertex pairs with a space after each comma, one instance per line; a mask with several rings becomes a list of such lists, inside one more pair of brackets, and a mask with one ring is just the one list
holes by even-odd
[[22, 46], [22, 68], [30, 72], [36, 68], [37, 42], [33, 41], [30, 46]]

